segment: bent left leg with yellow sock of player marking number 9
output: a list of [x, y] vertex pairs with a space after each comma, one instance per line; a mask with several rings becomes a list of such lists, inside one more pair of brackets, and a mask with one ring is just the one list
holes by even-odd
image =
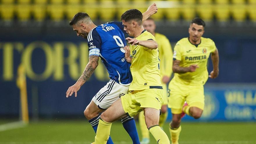
[[120, 118], [125, 118], [126, 116], [127, 115], [122, 108], [121, 99], [118, 99], [101, 114], [95, 136], [95, 144], [106, 144], [109, 139], [112, 122], [119, 120]]

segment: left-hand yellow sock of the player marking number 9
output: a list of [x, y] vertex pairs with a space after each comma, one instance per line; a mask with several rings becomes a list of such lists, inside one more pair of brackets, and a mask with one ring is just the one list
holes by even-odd
[[112, 123], [105, 122], [104, 120], [99, 118], [99, 125], [98, 125], [96, 136], [95, 136], [95, 144], [107, 143], [110, 135], [111, 125]]

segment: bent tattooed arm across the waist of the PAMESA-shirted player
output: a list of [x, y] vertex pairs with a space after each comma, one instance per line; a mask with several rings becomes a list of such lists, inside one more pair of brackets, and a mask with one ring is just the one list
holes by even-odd
[[179, 66], [180, 61], [173, 60], [173, 72], [184, 74], [186, 72], [194, 72], [196, 68], [198, 68], [198, 65], [190, 65], [189, 67], [180, 67]]

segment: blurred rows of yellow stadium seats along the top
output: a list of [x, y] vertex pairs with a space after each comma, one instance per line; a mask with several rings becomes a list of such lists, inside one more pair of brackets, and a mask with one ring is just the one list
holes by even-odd
[[157, 15], [152, 15], [156, 20], [166, 17], [177, 21], [180, 16], [184, 20], [191, 20], [198, 14], [206, 21], [216, 16], [218, 21], [225, 22], [232, 16], [235, 21], [241, 22], [246, 20], [247, 14], [250, 20], [255, 21], [256, 15], [256, 0], [0, 0], [0, 5], [1, 18], [4, 20], [12, 20], [17, 15], [21, 21], [31, 16], [42, 21], [48, 14], [51, 20], [60, 21], [65, 16], [70, 19], [75, 13], [83, 11], [92, 19], [110, 21], [120, 19], [131, 8], [143, 13], [153, 1], [159, 6]]

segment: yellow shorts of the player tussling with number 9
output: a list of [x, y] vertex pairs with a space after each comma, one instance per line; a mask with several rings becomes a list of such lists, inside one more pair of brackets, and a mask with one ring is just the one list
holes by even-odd
[[143, 108], [160, 110], [163, 105], [163, 89], [134, 90], [121, 96], [121, 102], [125, 113], [131, 117], [140, 113]]

